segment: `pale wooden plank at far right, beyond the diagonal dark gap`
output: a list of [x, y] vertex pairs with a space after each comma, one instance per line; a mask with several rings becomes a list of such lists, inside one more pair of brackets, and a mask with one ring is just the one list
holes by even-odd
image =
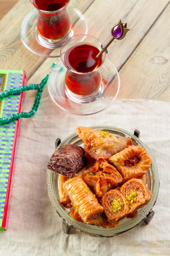
[[119, 98], [170, 101], [170, 4], [121, 68]]

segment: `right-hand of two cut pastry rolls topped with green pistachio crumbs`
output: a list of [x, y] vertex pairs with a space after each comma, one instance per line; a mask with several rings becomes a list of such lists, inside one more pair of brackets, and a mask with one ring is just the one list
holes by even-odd
[[121, 186], [120, 192], [130, 207], [129, 213], [143, 207], [151, 199], [151, 192], [141, 179], [128, 180]]

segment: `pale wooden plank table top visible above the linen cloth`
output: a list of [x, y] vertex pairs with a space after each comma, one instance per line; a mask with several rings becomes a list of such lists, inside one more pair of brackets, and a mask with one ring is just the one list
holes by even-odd
[[[88, 34], [103, 44], [120, 19], [130, 29], [108, 47], [107, 58], [119, 71], [119, 99], [170, 101], [170, 1], [71, 0], [84, 14]], [[20, 38], [22, 20], [33, 9], [19, 0], [0, 20], [0, 69], [25, 70], [28, 83], [39, 83], [56, 58], [30, 52]], [[44, 95], [48, 94], [44, 88]], [[29, 94], [28, 94], [29, 95]]]

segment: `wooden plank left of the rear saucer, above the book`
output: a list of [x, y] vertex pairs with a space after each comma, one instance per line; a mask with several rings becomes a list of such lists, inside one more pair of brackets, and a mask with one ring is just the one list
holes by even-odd
[[44, 60], [44, 58], [29, 52], [20, 39], [21, 22], [32, 8], [29, 1], [20, 0], [0, 21], [3, 35], [0, 36], [1, 69], [25, 70], [27, 76], [30, 76], [31, 72], [36, 70]]

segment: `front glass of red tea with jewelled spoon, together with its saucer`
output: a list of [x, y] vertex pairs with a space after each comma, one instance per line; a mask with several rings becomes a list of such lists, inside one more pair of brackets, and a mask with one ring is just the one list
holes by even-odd
[[117, 97], [119, 74], [106, 60], [99, 58], [102, 43], [89, 35], [69, 38], [61, 48], [59, 61], [49, 76], [49, 94], [62, 109], [77, 115], [104, 110]]

